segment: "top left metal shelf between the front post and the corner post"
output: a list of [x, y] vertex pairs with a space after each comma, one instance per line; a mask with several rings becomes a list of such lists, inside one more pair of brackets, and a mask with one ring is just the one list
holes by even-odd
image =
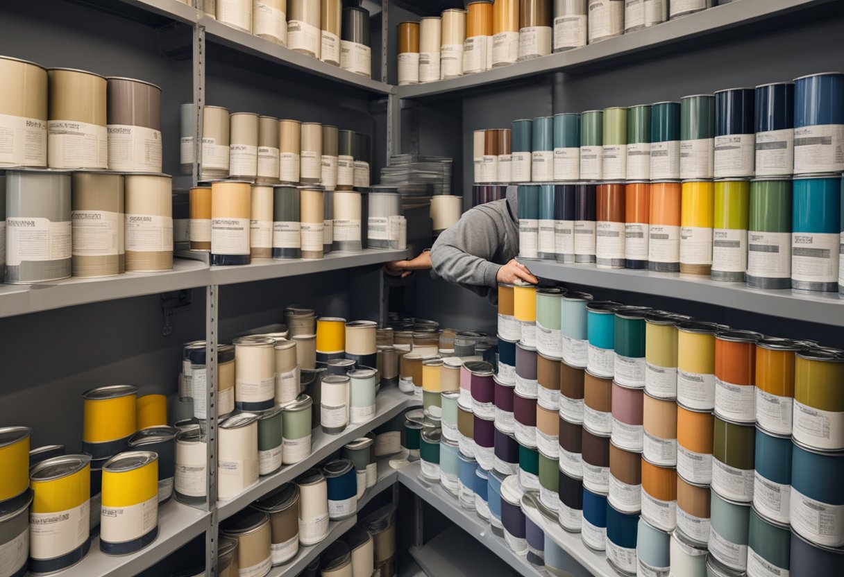
[[395, 94], [396, 88], [390, 84], [365, 78], [360, 74], [351, 73], [317, 58], [273, 44], [269, 40], [258, 38], [242, 30], [235, 30], [204, 14], [198, 22], [200, 26], [205, 28], [205, 39], [208, 42], [233, 49], [240, 52], [241, 55], [255, 57], [262, 61], [294, 69], [300, 73], [307, 73], [315, 78], [327, 79], [334, 83], [360, 89], [368, 94], [376, 96]]

